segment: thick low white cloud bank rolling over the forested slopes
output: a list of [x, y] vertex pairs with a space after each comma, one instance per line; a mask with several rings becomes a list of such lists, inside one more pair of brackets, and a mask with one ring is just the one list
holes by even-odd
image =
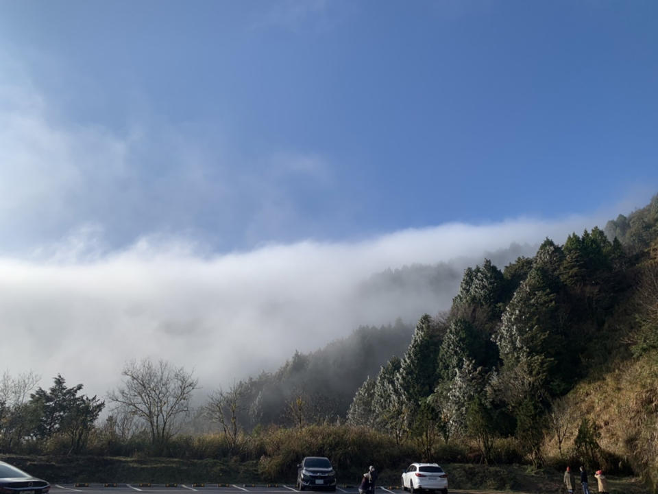
[[0, 362], [14, 373], [40, 373], [43, 385], [62, 373], [103, 395], [125, 361], [162, 357], [194, 368], [207, 390], [276, 368], [295, 349], [315, 350], [359, 324], [396, 316], [413, 322], [450, 305], [452, 294], [437, 300], [432, 293], [366, 302], [361, 286], [375, 272], [477, 257], [546, 235], [563, 241], [585, 226], [589, 220], [577, 217], [448, 224], [355, 244], [300, 242], [211, 258], [184, 242], [146, 240], [86, 261], [5, 257]]

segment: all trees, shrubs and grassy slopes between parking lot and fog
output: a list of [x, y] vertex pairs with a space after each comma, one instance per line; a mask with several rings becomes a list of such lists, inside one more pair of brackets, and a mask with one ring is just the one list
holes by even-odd
[[[217, 390], [197, 410], [184, 369], [133, 362], [124, 376], [97, 423], [106, 403], [81, 395], [82, 384], [67, 388], [58, 375], [29, 392], [34, 376], [5, 375], [0, 452], [159, 456], [185, 468], [212, 459], [263, 481], [291, 478], [308, 454], [330, 457], [345, 478], [377, 464], [391, 482], [414, 460], [455, 472], [486, 464], [486, 478], [456, 473], [452, 485], [487, 486], [526, 468], [547, 476], [537, 492], [557, 490], [560, 472], [583, 464], [613, 479], [639, 475], [656, 493], [658, 196], [604, 230], [563, 245], [547, 238], [533, 257], [467, 268], [450, 310], [421, 316], [415, 329], [362, 327]], [[143, 412], [149, 403], [158, 405]], [[171, 410], [162, 425], [158, 414]]]

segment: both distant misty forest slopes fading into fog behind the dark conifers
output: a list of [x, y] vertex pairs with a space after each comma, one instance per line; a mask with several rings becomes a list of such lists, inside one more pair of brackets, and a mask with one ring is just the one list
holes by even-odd
[[[487, 257], [510, 261], [534, 250], [536, 246], [512, 244], [487, 252]], [[363, 313], [379, 312], [387, 317], [412, 314], [417, 318], [422, 310], [432, 307], [437, 314], [450, 307], [463, 271], [476, 261], [480, 259], [463, 257], [450, 263], [413, 264], [373, 274], [358, 288], [359, 300], [371, 305]], [[411, 301], [411, 306], [402, 307], [403, 300]], [[360, 327], [348, 338], [313, 353], [295, 352], [277, 371], [263, 372], [235, 386], [240, 395], [240, 423], [247, 430], [257, 424], [289, 424], [295, 421], [295, 413], [311, 422], [344, 419], [364, 379], [375, 376], [391, 357], [401, 356], [412, 333], [413, 326], [398, 318], [393, 325]], [[302, 410], [293, 412], [291, 405], [298, 398]]]

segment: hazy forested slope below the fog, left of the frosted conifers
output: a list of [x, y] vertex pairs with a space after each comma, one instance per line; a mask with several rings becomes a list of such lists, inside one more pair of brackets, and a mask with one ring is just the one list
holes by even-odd
[[360, 327], [348, 338], [313, 353], [295, 352], [274, 373], [239, 381], [215, 395], [235, 404], [236, 419], [245, 430], [256, 425], [300, 425], [345, 417], [354, 390], [382, 363], [402, 355], [413, 327]]

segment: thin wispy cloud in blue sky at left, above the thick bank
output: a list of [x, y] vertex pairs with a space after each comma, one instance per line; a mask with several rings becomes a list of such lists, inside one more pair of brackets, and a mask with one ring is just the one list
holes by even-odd
[[27, 77], [0, 76], [0, 108], [0, 252], [49, 252], [90, 227], [106, 250], [151, 235], [257, 244], [304, 224], [291, 189], [332, 185], [321, 156], [249, 162], [193, 124], [143, 121], [121, 133], [67, 123]]

